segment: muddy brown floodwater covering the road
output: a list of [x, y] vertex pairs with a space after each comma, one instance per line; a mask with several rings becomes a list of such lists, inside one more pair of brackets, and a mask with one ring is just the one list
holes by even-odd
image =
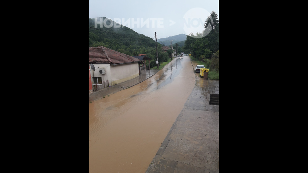
[[145, 173], [192, 92], [189, 56], [89, 103], [89, 173]]

